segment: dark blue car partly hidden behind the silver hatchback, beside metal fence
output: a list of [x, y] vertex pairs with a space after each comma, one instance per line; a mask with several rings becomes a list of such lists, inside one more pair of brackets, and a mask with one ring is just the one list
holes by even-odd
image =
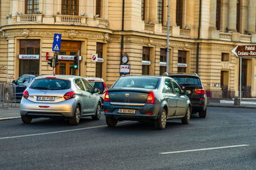
[[16, 89], [16, 99], [21, 99], [24, 90], [29, 86], [29, 84], [34, 80], [36, 76], [31, 74], [24, 74], [20, 76], [17, 80], [13, 80], [12, 83], [15, 84]]

